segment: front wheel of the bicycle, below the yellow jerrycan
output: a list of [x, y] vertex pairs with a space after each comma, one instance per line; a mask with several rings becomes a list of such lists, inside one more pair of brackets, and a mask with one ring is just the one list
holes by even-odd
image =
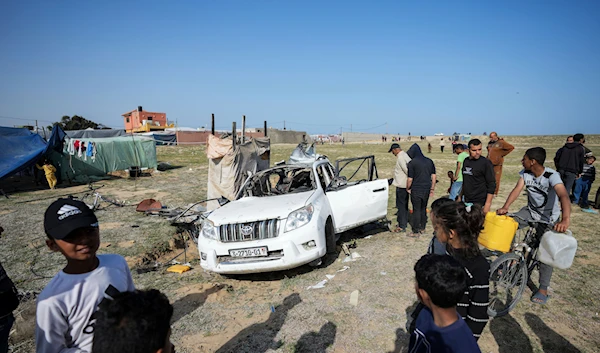
[[508, 253], [490, 266], [490, 303], [488, 315], [500, 317], [516, 305], [527, 286], [527, 266], [520, 255]]

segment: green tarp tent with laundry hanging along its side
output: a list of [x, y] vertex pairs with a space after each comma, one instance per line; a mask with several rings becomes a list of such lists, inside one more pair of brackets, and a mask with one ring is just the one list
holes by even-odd
[[[76, 141], [84, 143], [81, 156], [78, 150], [69, 152], [69, 146]], [[90, 143], [93, 146], [91, 155], [87, 153]], [[58, 170], [57, 177], [62, 180], [88, 182], [131, 167], [155, 169], [156, 145], [153, 139], [144, 136], [67, 138], [63, 150], [52, 153], [49, 159]]]

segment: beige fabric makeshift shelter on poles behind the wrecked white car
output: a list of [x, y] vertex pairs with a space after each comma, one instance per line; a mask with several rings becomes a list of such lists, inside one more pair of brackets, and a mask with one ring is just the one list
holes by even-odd
[[[208, 157], [207, 199], [221, 196], [234, 200], [248, 172], [256, 173], [270, 166], [271, 143], [268, 137], [253, 138], [233, 147], [231, 136], [218, 138], [208, 136], [206, 156]], [[216, 201], [207, 205], [208, 210], [218, 207]]]

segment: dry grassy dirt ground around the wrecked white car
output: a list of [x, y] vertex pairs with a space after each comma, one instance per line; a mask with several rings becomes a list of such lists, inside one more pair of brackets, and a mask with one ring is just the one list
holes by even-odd
[[[508, 156], [494, 209], [502, 206], [518, 178], [520, 159], [529, 147], [542, 146], [549, 162], [566, 136], [507, 137], [515, 151]], [[484, 138], [487, 143], [487, 138]], [[411, 143], [401, 142], [404, 149]], [[426, 143], [420, 142], [426, 151]], [[425, 153], [435, 162], [440, 180], [435, 198], [449, 186], [446, 172], [454, 169], [455, 156]], [[587, 146], [600, 154], [600, 136], [588, 136]], [[293, 145], [272, 146], [271, 162], [287, 159]], [[380, 178], [391, 177], [394, 159], [389, 143], [317, 146], [331, 160], [375, 155]], [[415, 261], [425, 252], [432, 234], [410, 239], [377, 225], [343, 234], [341, 242], [355, 241], [362, 256], [342, 262], [343, 252], [320, 268], [304, 266], [291, 271], [224, 277], [204, 272], [197, 249], [190, 245], [187, 260], [193, 269], [184, 274], [166, 272], [165, 263], [182, 252], [181, 235], [164, 218], [135, 212], [146, 198], [168, 207], [185, 207], [206, 195], [207, 160], [202, 146], [158, 147], [158, 158], [175, 168], [151, 177], [112, 179], [97, 184], [102, 195], [125, 200], [117, 208], [104, 204], [97, 211], [101, 222], [100, 253], [126, 257], [138, 288], [157, 288], [175, 307], [172, 340], [178, 352], [403, 352], [408, 344], [404, 330], [406, 310], [416, 296]], [[43, 213], [56, 197], [81, 195], [86, 186], [60, 186], [33, 190], [24, 181], [2, 187], [10, 199], [0, 199], [0, 261], [18, 288], [29, 293], [16, 312], [11, 352], [32, 352], [35, 294], [61, 269], [60, 255], [44, 245]], [[592, 195], [598, 184], [594, 185]], [[430, 200], [432, 201], [432, 200]], [[360, 202], [360, 200], [356, 200]], [[394, 190], [390, 190], [388, 218], [394, 219]], [[525, 204], [525, 196], [514, 210]], [[526, 290], [510, 315], [492, 320], [479, 341], [483, 352], [597, 352], [600, 347], [600, 216], [573, 207], [571, 227], [579, 242], [568, 270], [555, 270], [551, 298], [545, 306], [529, 301]], [[370, 237], [369, 237], [370, 236]], [[183, 262], [183, 255], [177, 257]], [[347, 268], [346, 268], [347, 266]], [[344, 270], [345, 269], [345, 270]], [[307, 289], [335, 275], [324, 288]], [[533, 276], [537, 281], [537, 274]], [[358, 305], [349, 303], [358, 291]]]

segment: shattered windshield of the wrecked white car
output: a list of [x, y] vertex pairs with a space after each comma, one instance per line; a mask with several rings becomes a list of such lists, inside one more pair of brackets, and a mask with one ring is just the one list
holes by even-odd
[[316, 188], [312, 168], [287, 166], [252, 176], [242, 190], [242, 197], [294, 194]]

